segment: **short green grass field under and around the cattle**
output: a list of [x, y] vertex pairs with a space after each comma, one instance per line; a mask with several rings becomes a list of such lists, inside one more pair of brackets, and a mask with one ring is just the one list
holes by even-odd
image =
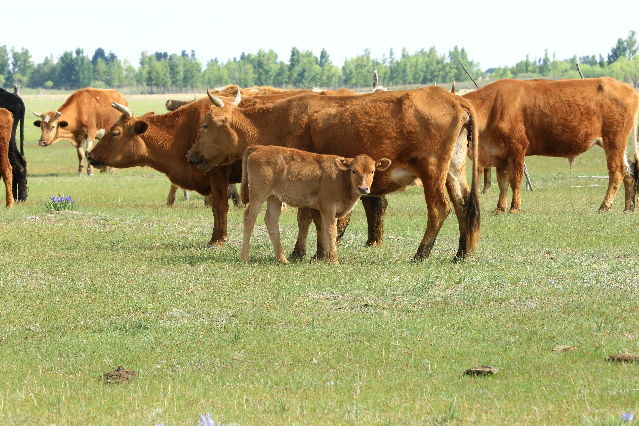
[[[203, 197], [165, 207], [169, 182], [147, 168], [77, 177], [71, 145], [38, 147], [31, 121], [29, 200], [0, 213], [1, 424], [195, 425], [206, 412], [218, 425], [639, 417], [639, 364], [606, 361], [639, 353], [639, 213], [622, 212], [623, 189], [613, 211], [596, 213], [607, 181], [578, 176], [607, 174], [600, 148], [572, 170], [529, 158], [535, 191], [523, 191], [518, 215], [491, 213], [494, 184], [480, 199], [479, 251], [462, 263], [451, 262], [454, 215], [431, 257], [409, 262], [426, 226], [422, 191], [409, 188], [389, 196], [380, 248], [363, 247], [358, 205], [340, 266], [282, 266], [261, 218], [240, 263], [240, 209], [226, 247], [207, 249]], [[47, 214], [43, 200], [62, 194], [76, 212]], [[295, 209], [280, 225], [290, 251]], [[138, 376], [101, 380], [120, 365]], [[500, 371], [462, 375], [476, 365]]]

